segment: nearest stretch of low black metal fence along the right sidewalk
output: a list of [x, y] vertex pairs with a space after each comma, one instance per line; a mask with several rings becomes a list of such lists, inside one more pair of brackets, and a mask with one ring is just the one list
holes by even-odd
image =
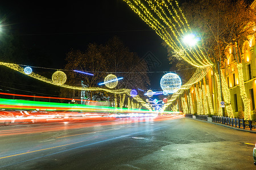
[[235, 126], [236, 128], [250, 128], [256, 129], [256, 121], [243, 120], [243, 118], [230, 118], [222, 116], [213, 116], [212, 121], [220, 124], [225, 124], [229, 126]]

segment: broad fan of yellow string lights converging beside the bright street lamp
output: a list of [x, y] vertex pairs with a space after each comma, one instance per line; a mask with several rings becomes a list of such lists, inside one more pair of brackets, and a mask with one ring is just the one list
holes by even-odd
[[124, 1], [185, 61], [196, 67], [212, 65], [199, 46], [194, 51], [180, 42], [181, 34], [189, 32], [190, 28], [177, 1]]

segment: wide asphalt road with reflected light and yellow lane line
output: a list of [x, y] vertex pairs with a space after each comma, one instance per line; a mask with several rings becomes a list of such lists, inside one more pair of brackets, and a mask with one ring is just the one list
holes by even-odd
[[191, 118], [0, 126], [0, 169], [255, 169], [255, 141]]

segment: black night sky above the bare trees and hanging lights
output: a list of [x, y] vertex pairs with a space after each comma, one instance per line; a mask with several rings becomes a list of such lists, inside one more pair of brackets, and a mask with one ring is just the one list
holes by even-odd
[[160, 78], [170, 70], [162, 39], [122, 0], [6, 1], [0, 14], [6, 14], [11, 33], [46, 52], [51, 68], [63, 68], [71, 49], [86, 50], [89, 43], [118, 36], [139, 57], [156, 58], [150, 71], [163, 72], [150, 74], [152, 90], [160, 90]]

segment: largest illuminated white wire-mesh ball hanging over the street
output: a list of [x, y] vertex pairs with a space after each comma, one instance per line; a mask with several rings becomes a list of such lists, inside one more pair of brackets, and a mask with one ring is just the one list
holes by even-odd
[[163, 91], [167, 91], [168, 94], [173, 94], [180, 89], [181, 79], [177, 74], [167, 73], [162, 76], [160, 80], [160, 86]]

